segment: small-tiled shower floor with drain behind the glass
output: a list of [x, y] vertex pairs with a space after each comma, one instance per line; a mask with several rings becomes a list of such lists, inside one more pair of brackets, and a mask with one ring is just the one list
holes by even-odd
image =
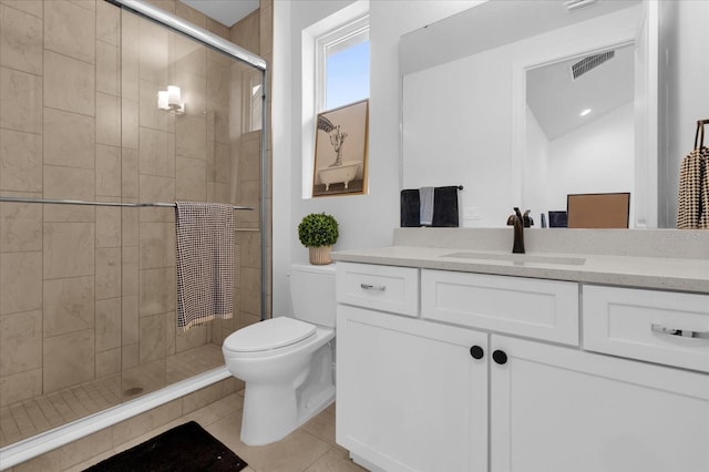
[[[116, 373], [0, 408], [0, 448], [78, 420], [140, 394], [224, 366], [222, 348], [205, 345], [169, 356], [138, 373]], [[156, 382], [155, 379], [165, 379]]]

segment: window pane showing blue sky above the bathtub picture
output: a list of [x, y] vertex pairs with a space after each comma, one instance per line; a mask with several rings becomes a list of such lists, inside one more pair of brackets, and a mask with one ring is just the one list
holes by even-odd
[[316, 112], [369, 98], [369, 17], [317, 40]]

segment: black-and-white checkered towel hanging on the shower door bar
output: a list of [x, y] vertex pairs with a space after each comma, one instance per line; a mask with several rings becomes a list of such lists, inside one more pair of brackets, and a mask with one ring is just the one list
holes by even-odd
[[232, 318], [234, 207], [177, 202], [177, 327]]

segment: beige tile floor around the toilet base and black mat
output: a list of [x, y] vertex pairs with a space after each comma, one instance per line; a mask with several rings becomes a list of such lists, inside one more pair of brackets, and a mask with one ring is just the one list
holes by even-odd
[[191, 420], [197, 421], [248, 462], [246, 472], [361, 472], [366, 470], [353, 463], [349, 459], [347, 450], [335, 442], [335, 404], [284, 440], [260, 447], [249, 447], [239, 440], [243, 406], [244, 398], [243, 391], [240, 391], [155, 429], [105, 454], [78, 464], [69, 472], [82, 471], [117, 452]]

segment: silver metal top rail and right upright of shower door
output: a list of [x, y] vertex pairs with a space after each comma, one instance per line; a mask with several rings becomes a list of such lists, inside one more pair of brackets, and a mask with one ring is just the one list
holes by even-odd
[[143, 0], [104, 0], [109, 3], [115, 4], [122, 9], [129, 10], [148, 20], [152, 20], [163, 27], [184, 34], [193, 40], [201, 42], [202, 44], [219, 51], [226, 55], [236, 59], [239, 62], [244, 62], [251, 65], [255, 69], [261, 71], [261, 153], [260, 153], [260, 172], [261, 172], [261, 194], [260, 194], [260, 218], [259, 229], [261, 232], [261, 293], [260, 293], [260, 319], [264, 320], [267, 317], [268, 298], [267, 298], [267, 284], [269, 281], [270, 270], [267, 269], [268, 258], [266, 257], [266, 248], [268, 245], [268, 109], [267, 98], [268, 93], [268, 64], [266, 60], [253, 52], [234, 44], [230, 41], [225, 40], [210, 31], [199, 28], [182, 18], [154, 7]]

